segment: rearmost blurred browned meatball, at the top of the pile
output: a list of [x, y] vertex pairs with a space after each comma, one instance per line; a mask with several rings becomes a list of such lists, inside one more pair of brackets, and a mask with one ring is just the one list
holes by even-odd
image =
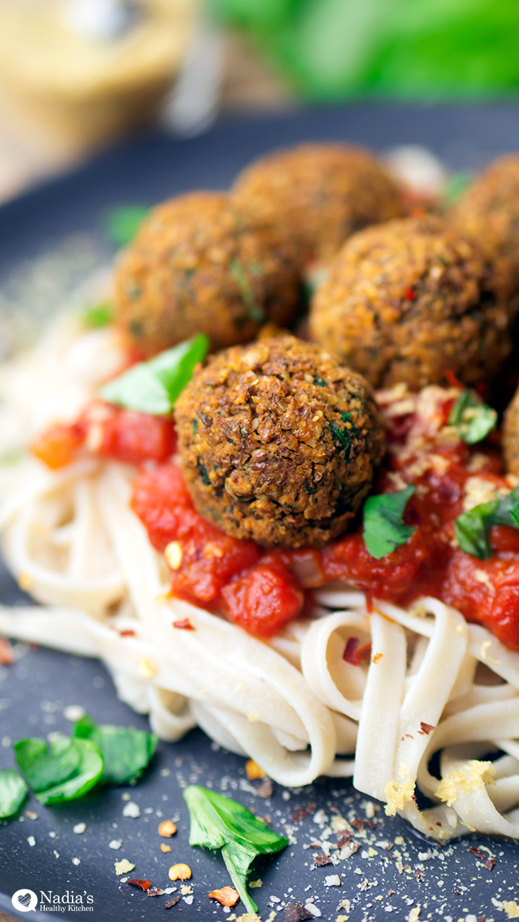
[[302, 264], [326, 264], [355, 231], [405, 213], [383, 165], [341, 144], [304, 144], [256, 160], [234, 195], [247, 214], [296, 244]]

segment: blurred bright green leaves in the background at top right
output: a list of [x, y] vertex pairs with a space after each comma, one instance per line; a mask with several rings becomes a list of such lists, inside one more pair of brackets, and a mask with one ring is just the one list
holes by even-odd
[[307, 99], [519, 95], [516, 0], [208, 0]]

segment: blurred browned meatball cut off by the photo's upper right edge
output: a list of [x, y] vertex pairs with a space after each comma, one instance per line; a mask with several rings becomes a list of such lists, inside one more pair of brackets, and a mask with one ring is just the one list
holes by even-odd
[[492, 284], [507, 297], [519, 290], [519, 156], [490, 164], [466, 195], [451, 208], [448, 219], [475, 240], [492, 262]]

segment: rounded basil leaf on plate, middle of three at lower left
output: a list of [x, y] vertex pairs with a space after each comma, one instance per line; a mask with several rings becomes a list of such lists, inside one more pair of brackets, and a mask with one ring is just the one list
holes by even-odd
[[102, 756], [88, 739], [20, 739], [13, 747], [20, 772], [42, 804], [82, 797], [100, 779]]

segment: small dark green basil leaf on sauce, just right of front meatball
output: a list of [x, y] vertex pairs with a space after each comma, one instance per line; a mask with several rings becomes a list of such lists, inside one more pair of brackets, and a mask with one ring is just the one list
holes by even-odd
[[413, 526], [405, 525], [402, 518], [407, 500], [416, 489], [409, 484], [405, 490], [396, 493], [369, 496], [364, 503], [364, 544], [377, 561], [401, 544], [406, 544], [416, 530]]

